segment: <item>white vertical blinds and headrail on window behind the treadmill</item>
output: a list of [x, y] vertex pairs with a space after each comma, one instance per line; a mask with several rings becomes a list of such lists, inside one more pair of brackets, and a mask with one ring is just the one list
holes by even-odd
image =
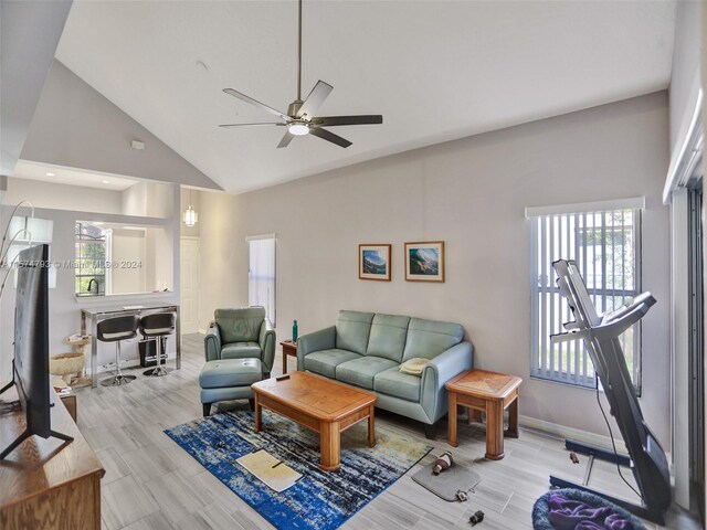
[[[556, 274], [551, 263], [559, 258], [574, 259], [587, 282], [587, 287], [592, 296], [598, 311], [604, 311], [604, 304], [610, 304], [611, 298], [616, 303], [621, 298], [626, 304], [641, 293], [641, 222], [642, 210], [645, 206], [644, 198], [622, 199], [615, 201], [602, 201], [583, 204], [567, 204], [559, 206], [527, 208], [526, 218], [530, 224], [530, 377], [548, 381], [555, 381], [576, 386], [594, 389], [598, 384], [591, 357], [581, 340], [563, 344], [550, 344], [550, 335], [563, 332], [562, 324], [574, 320], [567, 300], [559, 295], [556, 286]], [[609, 212], [633, 211], [631, 222], [622, 224], [606, 222]], [[619, 271], [627, 267], [633, 269], [634, 282], [630, 288], [618, 288], [615, 284], [608, 285], [606, 265], [604, 259], [606, 231], [621, 233], [622, 237], [629, 226], [633, 237], [633, 264], [624, 261], [625, 254], [621, 253], [621, 266]], [[597, 244], [590, 245], [581, 237], [589, 230], [601, 230], [601, 248]], [[545, 236], [541, 239], [540, 233]], [[591, 263], [591, 255], [600, 251], [600, 266]], [[614, 251], [615, 252], [615, 251]], [[588, 255], [590, 256], [588, 258]], [[614, 254], [615, 256], [615, 254]], [[594, 262], [597, 261], [593, 259]], [[616, 273], [614, 261], [612, 276]], [[597, 278], [601, 285], [597, 285]], [[609, 298], [609, 299], [606, 299]], [[612, 310], [618, 307], [608, 307]], [[632, 335], [631, 335], [632, 333]], [[627, 358], [630, 372], [634, 380], [636, 391], [641, 391], [641, 324], [633, 327], [631, 333], [622, 336], [622, 348], [630, 347], [632, 351], [624, 351]], [[632, 344], [629, 339], [632, 339]], [[545, 352], [545, 354], [542, 353]], [[633, 367], [633, 370], [631, 369]]]

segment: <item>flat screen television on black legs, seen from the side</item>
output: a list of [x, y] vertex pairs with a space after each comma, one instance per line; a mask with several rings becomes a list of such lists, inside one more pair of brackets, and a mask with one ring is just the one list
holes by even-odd
[[0, 453], [0, 460], [32, 435], [72, 441], [70, 436], [52, 431], [51, 425], [48, 265], [49, 245], [27, 248], [20, 252], [17, 259], [12, 381], [0, 390], [0, 394], [17, 386], [27, 428]]

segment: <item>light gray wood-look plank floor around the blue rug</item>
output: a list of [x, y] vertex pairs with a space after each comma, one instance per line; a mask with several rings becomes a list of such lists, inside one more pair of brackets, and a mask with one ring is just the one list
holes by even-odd
[[[198, 375], [203, 365], [203, 336], [182, 339], [182, 368], [163, 378], [146, 378], [141, 371], [126, 371], [138, 379], [126, 386], [80, 389], [78, 426], [103, 463], [104, 529], [268, 529], [273, 528], [240, 497], [223, 486], [191, 456], [162, 433], [165, 428], [201, 416]], [[295, 370], [295, 359], [288, 359]], [[281, 352], [275, 372], [282, 367]], [[523, 386], [520, 389], [523, 399]], [[247, 409], [247, 402], [225, 407]], [[377, 424], [404, 432], [425, 442], [420, 424], [384, 411]], [[346, 434], [344, 434], [346, 436]], [[573, 465], [562, 441], [521, 428], [518, 439], [506, 439], [506, 457], [486, 460], [482, 425], [460, 422], [458, 447], [446, 444], [446, 423], [434, 449], [405, 476], [354, 516], [348, 530], [443, 530], [471, 528], [476, 510], [486, 513], [481, 530], [531, 528], [535, 500], [548, 489], [548, 475], [581, 481], [585, 459]], [[455, 462], [471, 466], [482, 481], [466, 502], [445, 502], [410, 478], [434, 455], [451, 449]], [[631, 473], [624, 475], [633, 481]], [[635, 499], [613, 465], [594, 464], [591, 486]], [[647, 524], [650, 529], [663, 528]], [[664, 528], [700, 528], [685, 515], [672, 510]]]

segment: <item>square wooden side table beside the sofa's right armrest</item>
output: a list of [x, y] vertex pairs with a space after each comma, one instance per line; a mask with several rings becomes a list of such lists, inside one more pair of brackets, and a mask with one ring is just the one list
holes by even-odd
[[523, 379], [506, 373], [468, 370], [450, 380], [444, 388], [450, 394], [447, 441], [456, 447], [456, 405], [467, 409], [468, 422], [479, 420], [474, 411], [486, 412], [486, 458], [504, 457], [504, 411], [508, 409], [506, 435], [518, 437], [518, 386]]

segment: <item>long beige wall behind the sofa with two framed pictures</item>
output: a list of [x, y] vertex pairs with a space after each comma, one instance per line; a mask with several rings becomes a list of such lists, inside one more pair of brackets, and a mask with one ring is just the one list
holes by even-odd
[[[278, 339], [295, 318], [306, 333], [342, 308], [458, 321], [476, 367], [524, 378], [521, 414], [606, 434], [593, 392], [529, 378], [524, 208], [645, 195], [643, 287], [658, 304], [641, 402], [669, 451], [668, 131], [663, 92], [233, 198], [204, 192], [200, 321], [247, 304], [245, 236], [276, 233]], [[444, 284], [404, 282], [403, 243], [425, 240], [445, 241]], [[359, 243], [392, 243], [392, 282], [358, 279]]]

